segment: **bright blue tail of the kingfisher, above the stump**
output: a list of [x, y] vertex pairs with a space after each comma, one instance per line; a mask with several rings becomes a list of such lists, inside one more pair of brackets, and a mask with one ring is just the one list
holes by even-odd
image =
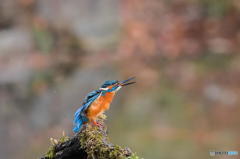
[[81, 130], [83, 123], [87, 121], [88, 119], [82, 115], [82, 108], [79, 108], [74, 115], [73, 132], [78, 133]]

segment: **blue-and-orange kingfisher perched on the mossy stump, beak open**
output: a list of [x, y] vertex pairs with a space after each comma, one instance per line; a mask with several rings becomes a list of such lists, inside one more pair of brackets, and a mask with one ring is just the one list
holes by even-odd
[[80, 132], [82, 126], [86, 123], [101, 126], [101, 124], [96, 121], [97, 118], [109, 109], [117, 91], [124, 86], [136, 83], [132, 81], [133, 79], [135, 79], [135, 77], [123, 81], [107, 80], [99, 89], [88, 93], [83, 100], [82, 106], [78, 108], [74, 114], [73, 132]]

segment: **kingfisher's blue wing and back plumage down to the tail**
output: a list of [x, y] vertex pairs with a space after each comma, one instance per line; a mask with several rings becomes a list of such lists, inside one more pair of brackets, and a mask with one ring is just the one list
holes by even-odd
[[76, 111], [74, 115], [74, 127], [73, 127], [73, 131], [75, 133], [78, 133], [81, 130], [83, 123], [88, 121], [85, 112], [92, 104], [92, 102], [99, 97], [100, 94], [101, 94], [100, 90], [94, 90], [88, 93], [83, 101], [82, 106], [78, 108], [78, 110]]

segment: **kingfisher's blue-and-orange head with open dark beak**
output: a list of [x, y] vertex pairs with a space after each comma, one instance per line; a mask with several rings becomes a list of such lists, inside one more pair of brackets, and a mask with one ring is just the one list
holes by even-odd
[[131, 77], [124, 81], [117, 81], [117, 80], [109, 80], [105, 81], [101, 86], [100, 90], [103, 92], [116, 92], [121, 89], [123, 86], [127, 86], [136, 82], [130, 82], [131, 80], [135, 79], [135, 77]]

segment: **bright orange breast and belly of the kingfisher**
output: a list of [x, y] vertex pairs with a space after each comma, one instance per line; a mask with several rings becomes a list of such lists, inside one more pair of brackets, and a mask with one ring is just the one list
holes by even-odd
[[114, 95], [115, 95], [114, 92], [108, 92], [105, 94], [105, 96], [100, 96], [98, 99], [96, 99], [88, 108], [87, 111], [88, 118], [95, 119], [105, 110], [109, 109]]

